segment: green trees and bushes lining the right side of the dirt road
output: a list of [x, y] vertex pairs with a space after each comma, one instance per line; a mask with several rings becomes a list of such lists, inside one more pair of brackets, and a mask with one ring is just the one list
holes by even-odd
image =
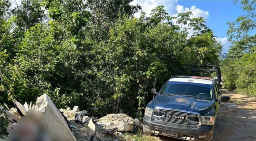
[[[236, 1], [235, 1], [236, 3]], [[247, 12], [230, 25], [231, 49], [223, 60], [224, 86], [248, 96], [256, 96], [256, 1], [240, 1]]]

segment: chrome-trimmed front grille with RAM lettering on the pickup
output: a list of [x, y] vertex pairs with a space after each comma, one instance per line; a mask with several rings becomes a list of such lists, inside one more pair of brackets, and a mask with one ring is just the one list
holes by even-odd
[[178, 125], [199, 125], [199, 115], [179, 110], [157, 109], [154, 111], [153, 118], [161, 122]]

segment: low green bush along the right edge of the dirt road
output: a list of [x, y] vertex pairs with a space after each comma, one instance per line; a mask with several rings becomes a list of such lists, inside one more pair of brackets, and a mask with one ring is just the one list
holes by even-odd
[[256, 96], [256, 52], [222, 62], [224, 87], [250, 97]]

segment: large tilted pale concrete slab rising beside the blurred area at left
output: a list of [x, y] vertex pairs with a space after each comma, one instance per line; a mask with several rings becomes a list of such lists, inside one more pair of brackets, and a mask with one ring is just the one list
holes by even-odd
[[37, 98], [35, 108], [44, 114], [46, 125], [53, 132], [64, 138], [65, 141], [76, 141], [64, 117], [47, 94]]

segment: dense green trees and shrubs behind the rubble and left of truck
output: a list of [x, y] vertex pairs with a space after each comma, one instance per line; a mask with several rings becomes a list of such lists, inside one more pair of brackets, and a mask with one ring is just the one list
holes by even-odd
[[160, 88], [184, 64], [219, 64], [221, 45], [202, 17], [158, 6], [136, 18], [130, 2], [23, 1], [26, 11], [1, 1], [1, 104], [46, 93], [59, 108], [141, 117], [155, 79]]

